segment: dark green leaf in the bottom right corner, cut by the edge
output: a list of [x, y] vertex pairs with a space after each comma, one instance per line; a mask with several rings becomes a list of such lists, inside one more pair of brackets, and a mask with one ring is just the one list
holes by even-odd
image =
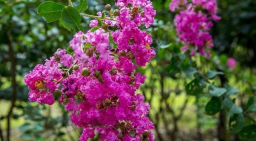
[[243, 140], [250, 140], [256, 138], [256, 125], [248, 125], [241, 129], [239, 136]]

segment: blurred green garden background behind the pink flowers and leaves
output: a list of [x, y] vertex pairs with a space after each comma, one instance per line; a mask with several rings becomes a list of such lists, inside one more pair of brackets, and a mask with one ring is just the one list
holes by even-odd
[[[44, 0], [0, 0], [0, 139], [1, 140], [77, 140], [81, 129], [72, 125], [63, 105], [53, 106], [29, 102], [28, 89], [23, 76], [38, 63], [43, 63], [57, 48], [66, 48], [72, 38], [59, 22], [46, 23], [37, 15], [37, 6]], [[52, 0], [53, 1], [53, 0]], [[67, 4], [67, 0], [54, 0]], [[76, 0], [72, 0], [74, 5]], [[139, 71], [147, 76], [138, 92], [145, 95], [151, 105], [149, 118], [155, 125], [155, 140], [239, 140], [227, 128], [228, 113], [214, 116], [204, 114], [209, 100], [185, 92], [193, 69], [180, 70], [184, 63], [171, 63], [178, 59], [178, 42], [173, 23], [174, 14], [168, 9], [170, 0], [152, 0], [157, 11], [155, 23], [147, 29], [153, 37], [156, 57]], [[88, 14], [96, 14], [114, 0], [88, 0]], [[234, 57], [235, 70], [227, 71], [228, 78], [218, 77], [214, 83], [228, 82], [241, 90], [236, 102], [244, 107], [249, 96], [256, 91], [256, 1], [217, 0], [221, 20], [214, 23], [214, 56], [225, 60]], [[84, 30], [89, 18], [83, 17]], [[166, 51], [167, 50], [167, 51]], [[202, 70], [216, 68], [211, 60], [192, 58]], [[187, 61], [187, 62], [186, 62]], [[176, 62], [176, 61], [175, 61]], [[167, 67], [166, 67], [167, 66]], [[224, 136], [224, 137], [223, 137]], [[97, 140], [97, 137], [91, 140]]]

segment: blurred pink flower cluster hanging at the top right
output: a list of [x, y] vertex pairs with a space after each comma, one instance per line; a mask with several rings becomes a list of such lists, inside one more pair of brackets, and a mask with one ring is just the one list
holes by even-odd
[[184, 43], [181, 48], [186, 52], [190, 48], [190, 55], [199, 52], [201, 55], [211, 55], [209, 48], [213, 47], [212, 36], [209, 33], [212, 27], [211, 20], [218, 21], [217, 3], [215, 0], [172, 0], [169, 9], [174, 12], [174, 22], [179, 39]]

